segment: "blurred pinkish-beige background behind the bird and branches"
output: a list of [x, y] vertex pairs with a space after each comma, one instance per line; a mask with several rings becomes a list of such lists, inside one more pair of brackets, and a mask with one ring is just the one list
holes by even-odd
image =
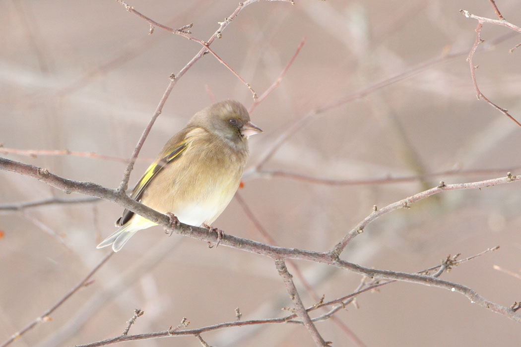
[[[238, 5], [235, 0], [128, 4], [174, 28], [193, 22], [191, 31], [201, 40]], [[521, 23], [517, 1], [498, 0], [497, 5], [507, 20]], [[0, 155], [117, 187], [168, 76], [200, 46], [159, 28], [149, 35], [149, 25], [116, 1], [5, 0], [2, 8], [0, 143], [5, 149]], [[239, 191], [244, 204], [232, 200], [214, 226], [279, 246], [327, 251], [375, 204], [383, 207], [439, 181], [520, 174], [521, 128], [476, 100], [465, 59], [477, 22], [461, 15], [461, 8], [496, 18], [486, 0], [306, 0], [246, 7], [212, 49], [257, 94], [277, 79], [303, 37], [305, 44], [280, 86], [252, 112], [264, 134], [250, 140]], [[474, 58], [481, 91], [519, 120], [521, 48], [508, 50], [521, 35], [485, 24], [481, 38], [485, 43]], [[211, 55], [203, 57], [168, 98], [132, 172], [131, 187], [166, 140], [212, 102], [210, 94], [246, 107], [253, 101], [225, 66]], [[288, 134], [297, 122], [302, 126]], [[284, 134], [289, 136], [258, 166]], [[14, 149], [97, 156], [30, 157]], [[386, 179], [393, 177], [410, 179]], [[493, 265], [519, 274], [520, 192], [519, 183], [443, 192], [370, 224], [342, 259], [416, 272], [448, 254], [463, 258], [500, 245], [499, 251], [442, 278], [510, 306], [521, 299], [521, 282]], [[122, 209], [113, 203], [6, 207], [53, 197], [82, 198], [0, 171], [0, 342], [63, 298], [108, 252], [95, 246], [115, 230]], [[259, 233], [244, 206], [272, 241]], [[306, 306], [315, 303], [313, 295], [332, 300], [353, 292], [361, 281], [325, 265], [295, 264], [313, 287], [311, 294], [295, 276]], [[242, 319], [279, 317], [287, 314], [282, 307], [291, 305], [270, 259], [168, 238], [161, 227], [132, 238], [92, 279], [51, 315], [51, 322], [12, 345], [66, 346], [115, 337], [138, 308], [145, 314], [131, 334], [165, 330], [182, 317], [190, 320], [189, 328], [228, 322], [235, 320], [235, 307]], [[519, 323], [438, 288], [391, 284], [360, 295], [357, 304], [358, 309], [349, 305], [339, 311], [337, 322], [317, 323], [333, 346], [517, 346], [521, 338]], [[219, 347], [313, 345], [304, 327], [288, 324], [229, 328], [203, 338]], [[194, 337], [125, 344], [198, 345]]]

